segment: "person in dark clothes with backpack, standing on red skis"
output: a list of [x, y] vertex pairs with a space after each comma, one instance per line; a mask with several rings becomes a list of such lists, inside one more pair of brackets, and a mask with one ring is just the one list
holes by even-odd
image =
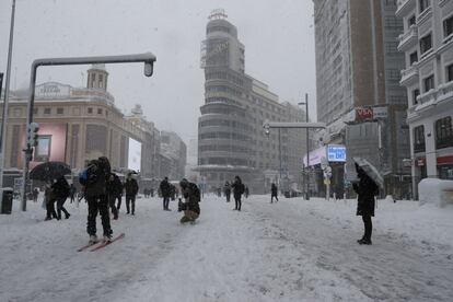
[[111, 175], [111, 164], [107, 158], [98, 158], [89, 162], [88, 167], [79, 175], [84, 196], [89, 205], [86, 232], [90, 242], [97, 242], [96, 216], [101, 214], [104, 231], [104, 241], [112, 240], [111, 218], [108, 213], [108, 198], [106, 190], [107, 177]]

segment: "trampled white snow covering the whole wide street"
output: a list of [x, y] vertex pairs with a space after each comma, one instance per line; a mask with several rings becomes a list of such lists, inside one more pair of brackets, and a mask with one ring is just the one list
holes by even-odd
[[[452, 301], [453, 209], [381, 200], [361, 246], [355, 200], [206, 197], [195, 225], [176, 202], [138, 199], [113, 221], [126, 237], [98, 252], [85, 204], [44, 221], [40, 204], [0, 216], [0, 301]], [[102, 230], [98, 221], [98, 230]]]

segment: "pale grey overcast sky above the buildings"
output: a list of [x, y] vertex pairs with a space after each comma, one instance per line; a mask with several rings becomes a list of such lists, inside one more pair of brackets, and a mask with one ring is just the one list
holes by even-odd
[[[11, 2], [0, 1], [0, 72], [7, 70]], [[187, 142], [197, 136], [204, 103], [200, 42], [218, 8], [245, 45], [245, 72], [280, 101], [297, 103], [307, 92], [315, 118], [312, 0], [16, 0], [11, 89], [27, 86], [36, 58], [152, 51], [152, 78], [142, 63], [108, 65], [108, 91], [120, 109], [141, 104], [159, 129]], [[84, 86], [88, 68], [39, 68], [37, 82]]]

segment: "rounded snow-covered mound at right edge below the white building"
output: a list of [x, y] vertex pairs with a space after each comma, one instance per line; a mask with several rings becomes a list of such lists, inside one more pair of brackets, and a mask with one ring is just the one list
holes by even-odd
[[420, 205], [434, 204], [438, 207], [453, 205], [453, 181], [425, 178], [418, 184]]

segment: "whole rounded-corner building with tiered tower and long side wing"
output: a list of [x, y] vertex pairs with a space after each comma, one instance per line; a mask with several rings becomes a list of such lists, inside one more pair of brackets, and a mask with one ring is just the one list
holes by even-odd
[[[290, 166], [288, 133], [282, 131], [287, 142], [279, 144], [275, 133], [265, 136], [264, 120], [288, 121], [283, 116], [294, 116], [294, 112], [303, 115], [295, 106], [279, 104], [278, 96], [266, 84], [245, 74], [244, 45], [224, 11], [213, 11], [209, 20], [207, 38], [201, 43], [206, 82], [205, 104], [198, 119], [197, 170], [207, 190], [223, 187], [239, 175], [252, 193], [263, 193], [274, 181], [266, 181], [264, 172], [275, 169], [278, 158], [281, 165], [283, 147], [286, 166]], [[303, 149], [295, 156], [301, 159]]]

